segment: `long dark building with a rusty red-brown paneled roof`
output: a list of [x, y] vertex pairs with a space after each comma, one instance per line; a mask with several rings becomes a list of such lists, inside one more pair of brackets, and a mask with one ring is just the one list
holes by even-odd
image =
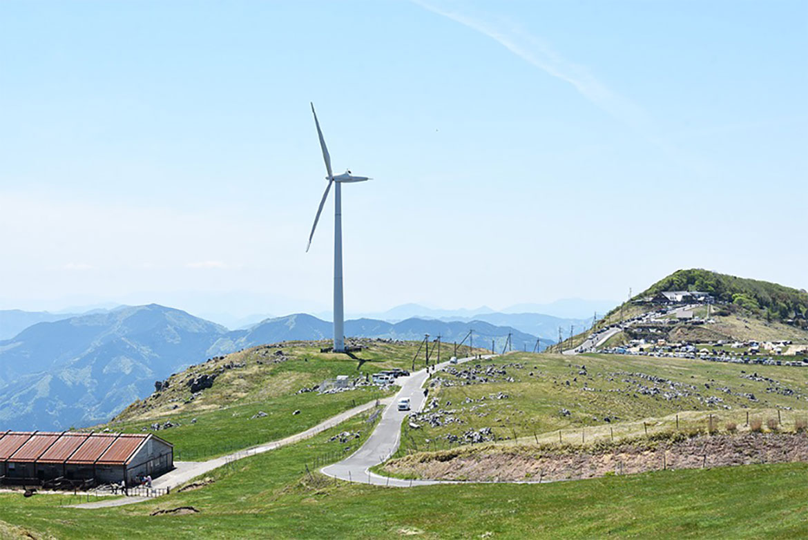
[[2, 483], [121, 483], [174, 468], [174, 446], [141, 433], [0, 432]]

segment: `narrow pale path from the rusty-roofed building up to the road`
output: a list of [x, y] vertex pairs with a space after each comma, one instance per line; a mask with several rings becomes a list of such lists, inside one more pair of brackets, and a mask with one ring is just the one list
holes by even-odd
[[[380, 399], [379, 403], [386, 405], [392, 403], [392, 400], [393, 398]], [[175, 489], [176, 487], [183, 485], [183, 483], [186, 483], [188, 480], [194, 479], [200, 475], [204, 475], [213, 469], [217, 469], [229, 462], [234, 462], [237, 459], [254, 456], [255, 454], [263, 454], [264, 452], [279, 449], [282, 446], [291, 445], [293, 443], [308, 439], [309, 437], [314, 437], [326, 429], [333, 428], [336, 425], [342, 424], [345, 420], [348, 420], [353, 416], [376, 407], [376, 403], [377, 402], [375, 399], [373, 401], [368, 401], [368, 403], [364, 403], [362, 405], [358, 405], [357, 407], [353, 407], [352, 409], [348, 409], [347, 411], [343, 411], [339, 413], [339, 415], [331, 416], [328, 420], [324, 420], [312, 428], [295, 433], [294, 435], [290, 435], [284, 439], [280, 439], [280, 441], [272, 441], [263, 445], [254, 446], [253, 448], [239, 450], [233, 454], [227, 454], [226, 456], [221, 456], [220, 458], [208, 459], [208, 461], [204, 462], [175, 462], [174, 470], [170, 470], [165, 475], [155, 479], [152, 483], [152, 487], [163, 489], [169, 487], [170, 489]], [[70, 506], [70, 508], [108, 508], [112, 506], [123, 506], [124, 504], [135, 504], [143, 500], [148, 500], [148, 497], [124, 497], [122, 499], [114, 500], [99, 500], [93, 503], [73, 504]]]

